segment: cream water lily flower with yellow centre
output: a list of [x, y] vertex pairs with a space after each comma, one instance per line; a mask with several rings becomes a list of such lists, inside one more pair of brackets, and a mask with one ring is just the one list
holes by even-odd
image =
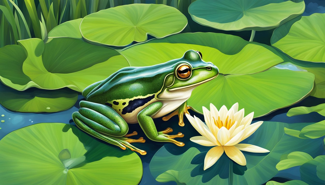
[[263, 121], [257, 121], [251, 124], [254, 112], [244, 117], [244, 109], [238, 111], [238, 103], [235, 103], [229, 110], [223, 105], [218, 111], [212, 103], [210, 111], [205, 107], [202, 108], [206, 124], [196, 116], [186, 114], [186, 117], [202, 135], [191, 137], [190, 140], [199, 145], [214, 146], [204, 158], [204, 170], [214, 165], [224, 152], [230, 159], [242, 166], [246, 165], [246, 158], [240, 150], [254, 153], [270, 152], [259, 146], [239, 144], [263, 123]]

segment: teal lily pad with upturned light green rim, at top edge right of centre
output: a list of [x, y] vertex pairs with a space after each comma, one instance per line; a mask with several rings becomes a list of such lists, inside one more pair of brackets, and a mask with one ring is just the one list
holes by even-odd
[[302, 14], [302, 0], [197, 0], [188, 7], [192, 19], [222, 30], [267, 30]]

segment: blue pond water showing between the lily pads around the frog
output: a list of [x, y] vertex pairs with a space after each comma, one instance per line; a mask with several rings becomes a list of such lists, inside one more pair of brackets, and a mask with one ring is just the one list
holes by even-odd
[[[0, 117], [1, 120], [4, 120], [4, 122], [0, 122], [0, 139], [2, 139], [6, 134], [17, 130], [22, 127], [26, 127], [32, 124], [36, 123], [43, 123], [43, 122], [62, 122], [66, 124], [73, 124], [74, 122], [71, 120], [72, 112], [78, 111], [79, 108], [79, 101], [82, 100], [83, 97], [79, 96], [77, 103], [70, 109], [56, 112], [56, 113], [20, 113], [20, 112], [12, 112], [10, 110], [7, 110], [6, 108], [0, 106], [0, 115], [4, 115], [3, 117]], [[318, 122], [324, 120], [324, 117], [319, 115], [316, 112], [312, 112], [305, 115], [299, 115], [299, 116], [293, 116], [288, 117], [286, 113], [288, 110], [292, 107], [299, 107], [299, 106], [315, 106], [320, 103], [325, 103], [325, 99], [319, 99], [314, 97], [307, 97], [301, 102], [281, 110], [277, 110], [269, 115], [256, 118], [253, 120], [255, 121], [277, 121], [277, 122], [286, 122], [286, 123], [303, 123], [303, 122]], [[193, 111], [190, 111], [191, 114], [194, 114], [198, 116], [200, 119], [203, 120], [203, 116], [199, 115]], [[177, 132], [183, 132], [186, 135], [186, 132], [193, 132], [195, 135], [195, 130], [191, 127], [190, 123], [186, 120], [185, 126], [180, 127], [178, 126], [178, 118], [173, 117], [170, 121], [162, 121], [160, 118], [154, 120], [157, 126], [157, 130], [164, 130], [167, 127], [172, 127], [174, 129], [174, 133]], [[142, 184], [162, 184], [157, 182], [152, 175], [150, 174], [149, 170], [149, 163], [152, 158], [152, 156], [157, 152], [159, 148], [161, 148], [163, 145], [173, 145], [173, 144], [166, 144], [166, 143], [158, 143], [158, 142], [152, 142], [148, 138], [146, 138], [145, 134], [142, 132], [140, 126], [138, 124], [131, 124], [129, 132], [137, 131], [138, 136], [143, 136], [146, 139], [146, 143], [144, 144], [134, 144], [136, 147], [140, 149], [144, 149], [147, 151], [147, 155], [140, 156], [143, 164], [143, 177], [140, 182], [140, 185]], [[190, 135], [190, 134], [189, 134]], [[199, 135], [197, 133], [197, 135]], [[95, 139], [95, 138], [94, 138]], [[184, 138], [179, 138], [179, 141], [182, 140], [188, 140], [189, 137], [185, 136]], [[100, 141], [100, 140], [98, 140]], [[102, 142], [102, 141], [100, 141]], [[184, 146], [186, 147], [186, 146]], [[278, 177], [280, 180], [286, 181], [287, 179], [300, 179], [300, 172], [299, 167], [289, 168], [287, 170], [280, 171], [276, 177]], [[282, 179], [284, 178], [284, 179]], [[279, 181], [279, 179], [277, 179]], [[165, 185], [169, 184], [176, 184], [175, 182], [168, 182], [164, 183]]]

